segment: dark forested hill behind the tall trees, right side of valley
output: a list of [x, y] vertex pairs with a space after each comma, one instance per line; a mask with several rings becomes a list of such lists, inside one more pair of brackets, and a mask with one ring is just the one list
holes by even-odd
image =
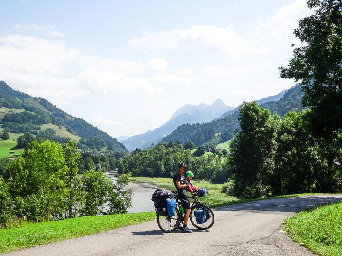
[[[283, 97], [278, 101], [266, 102], [260, 106], [269, 109], [271, 113], [277, 113], [278, 115], [283, 116], [290, 110], [302, 110], [302, 97], [303, 92], [301, 91], [301, 86], [300, 84], [297, 84], [284, 93]], [[205, 144], [208, 147], [212, 144], [217, 145], [221, 141], [227, 141], [233, 138], [235, 130], [239, 128], [238, 116], [239, 112], [235, 111], [231, 115], [208, 123], [183, 124], [163, 138], [162, 142], [178, 140], [184, 144], [188, 140], [191, 140], [196, 146], [202, 144]]]

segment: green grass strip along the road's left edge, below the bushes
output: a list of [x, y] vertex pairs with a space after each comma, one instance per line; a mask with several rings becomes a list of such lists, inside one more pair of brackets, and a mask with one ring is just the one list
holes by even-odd
[[155, 218], [155, 212], [145, 212], [24, 223], [18, 228], [0, 229], [0, 253], [92, 235], [106, 230], [147, 222]]

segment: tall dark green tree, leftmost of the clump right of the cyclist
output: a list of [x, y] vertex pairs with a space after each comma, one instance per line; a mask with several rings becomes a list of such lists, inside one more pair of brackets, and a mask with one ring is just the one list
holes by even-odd
[[256, 101], [240, 105], [241, 130], [231, 142], [228, 158], [235, 197], [263, 197], [268, 193], [266, 184], [275, 167], [278, 119], [267, 109], [260, 109]]

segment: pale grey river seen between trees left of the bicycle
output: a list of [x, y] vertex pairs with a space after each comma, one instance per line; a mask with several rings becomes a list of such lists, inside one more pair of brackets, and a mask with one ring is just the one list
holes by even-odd
[[[105, 173], [105, 175], [115, 182], [116, 177], [114, 173]], [[148, 183], [134, 183], [130, 182], [125, 189], [132, 189], [134, 192], [132, 203], [133, 206], [128, 209], [128, 213], [141, 213], [154, 211], [153, 202], [151, 200], [152, 194], [158, 187]], [[108, 203], [104, 205], [108, 209]]]

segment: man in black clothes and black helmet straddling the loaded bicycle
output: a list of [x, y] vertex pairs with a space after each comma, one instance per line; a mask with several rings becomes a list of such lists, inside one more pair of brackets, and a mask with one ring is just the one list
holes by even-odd
[[178, 199], [180, 200], [181, 205], [184, 208], [185, 214], [184, 214], [184, 224], [183, 227], [179, 228], [182, 229], [183, 233], [192, 233], [193, 231], [187, 227], [189, 215], [190, 215], [190, 201], [188, 197], [188, 192], [187, 188], [189, 184], [186, 184], [185, 177], [184, 177], [184, 172], [185, 169], [187, 168], [187, 165], [185, 163], [180, 163], [178, 165], [178, 172], [173, 176], [173, 184], [176, 187], [178, 191]]

